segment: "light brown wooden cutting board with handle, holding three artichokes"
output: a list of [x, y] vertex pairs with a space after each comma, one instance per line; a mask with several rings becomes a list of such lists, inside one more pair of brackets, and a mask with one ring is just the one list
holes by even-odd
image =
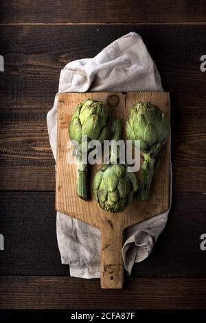
[[[140, 203], [134, 198], [124, 212], [116, 214], [106, 212], [95, 201], [92, 192], [89, 202], [76, 195], [76, 164], [67, 163], [67, 158], [71, 159], [72, 149], [68, 135], [68, 123], [76, 105], [85, 98], [104, 102], [114, 119], [122, 118], [122, 137], [126, 139], [124, 129], [130, 107], [135, 102], [152, 102], [157, 104], [170, 120], [170, 94], [165, 92], [58, 94], [56, 210], [101, 230], [101, 287], [117, 289], [122, 288], [124, 280], [122, 260], [124, 229], [155, 216], [169, 207], [170, 138], [161, 151], [161, 161], [152, 181], [150, 199]], [[91, 187], [95, 172], [100, 166], [89, 166], [89, 168], [91, 171], [89, 187]]]

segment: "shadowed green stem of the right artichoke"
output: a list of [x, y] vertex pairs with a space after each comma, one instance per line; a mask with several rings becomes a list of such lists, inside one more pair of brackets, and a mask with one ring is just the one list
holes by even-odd
[[144, 163], [141, 166], [141, 183], [139, 186], [139, 201], [147, 201], [150, 196], [150, 186], [155, 170], [155, 159], [150, 155], [144, 154]]

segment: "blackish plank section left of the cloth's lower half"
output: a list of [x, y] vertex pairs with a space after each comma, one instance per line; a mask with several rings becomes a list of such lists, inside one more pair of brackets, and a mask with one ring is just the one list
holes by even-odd
[[2, 192], [0, 201], [1, 274], [68, 275], [56, 241], [54, 192]]

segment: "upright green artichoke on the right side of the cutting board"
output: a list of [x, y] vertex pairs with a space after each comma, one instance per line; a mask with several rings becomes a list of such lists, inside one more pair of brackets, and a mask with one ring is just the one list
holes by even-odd
[[126, 122], [126, 135], [128, 140], [132, 140], [134, 144], [135, 140], [140, 141], [140, 148], [144, 155], [138, 192], [139, 201], [148, 200], [159, 152], [167, 141], [168, 131], [168, 120], [155, 104], [150, 102], [133, 104], [129, 120]]

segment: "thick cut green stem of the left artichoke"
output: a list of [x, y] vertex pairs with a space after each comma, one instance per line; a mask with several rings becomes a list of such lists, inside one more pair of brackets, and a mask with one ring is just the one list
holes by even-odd
[[76, 182], [76, 194], [81, 199], [89, 200], [89, 192], [88, 192], [88, 174], [87, 174], [87, 165], [84, 167], [78, 167], [77, 172], [77, 182]]

